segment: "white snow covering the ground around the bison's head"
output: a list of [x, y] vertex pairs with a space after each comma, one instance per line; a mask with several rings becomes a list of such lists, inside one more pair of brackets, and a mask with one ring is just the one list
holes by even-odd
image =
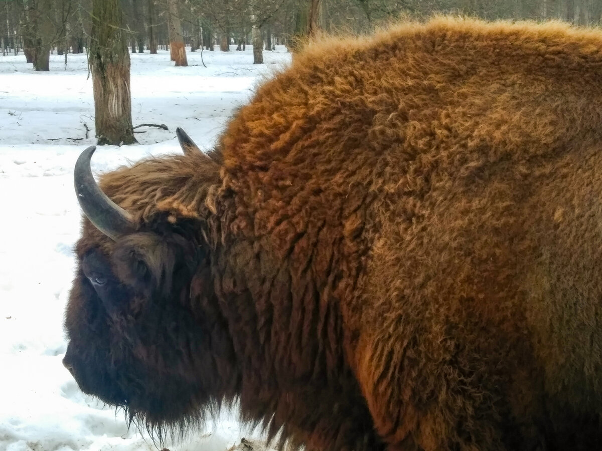
[[[234, 47], [232, 47], [234, 49]], [[179, 152], [176, 127], [208, 149], [233, 109], [273, 69], [290, 61], [284, 47], [253, 65], [245, 52], [188, 52], [189, 67], [173, 67], [169, 54], [132, 54], [134, 126], [139, 144], [104, 146], [95, 172], [144, 156]], [[95, 144], [92, 79], [85, 55], [51, 55], [51, 72], [34, 72], [25, 57], [0, 57], [0, 450], [155, 450], [145, 433], [128, 430], [123, 413], [79, 391], [61, 360], [66, 350], [63, 313], [75, 268], [73, 245], [80, 211], [72, 170]], [[86, 137], [86, 127], [90, 129]], [[223, 451], [245, 430], [236, 412], [172, 451]], [[255, 449], [258, 449], [255, 447]]]

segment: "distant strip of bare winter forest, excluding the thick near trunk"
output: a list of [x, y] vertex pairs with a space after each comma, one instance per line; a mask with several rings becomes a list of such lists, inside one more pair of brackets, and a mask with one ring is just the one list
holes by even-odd
[[[599, 0], [2, 0], [2, 55], [24, 52], [36, 70], [48, 70], [49, 54], [84, 52], [101, 5], [114, 11], [104, 14], [122, 25], [132, 53], [151, 54], [179, 42], [191, 52], [229, 51], [229, 44], [240, 51], [252, 39], [272, 50], [280, 43], [294, 46], [295, 38], [318, 29], [365, 33], [400, 17], [433, 13], [577, 25], [597, 25], [602, 14]], [[184, 55], [176, 64], [185, 65]]]

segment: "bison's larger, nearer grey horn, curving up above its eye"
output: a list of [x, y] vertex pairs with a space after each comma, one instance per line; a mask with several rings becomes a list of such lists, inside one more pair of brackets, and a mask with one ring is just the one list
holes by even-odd
[[79, 155], [73, 171], [75, 194], [79, 206], [90, 222], [114, 241], [125, 233], [134, 230], [132, 215], [114, 203], [96, 185], [90, 168], [90, 160], [96, 146], [90, 146]]

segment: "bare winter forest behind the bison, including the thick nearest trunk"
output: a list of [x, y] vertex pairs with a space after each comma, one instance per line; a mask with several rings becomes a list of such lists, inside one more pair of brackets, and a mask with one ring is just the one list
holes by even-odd
[[[23, 53], [36, 71], [50, 55], [88, 56], [95, 98], [98, 144], [135, 142], [131, 123], [128, 52], [169, 50], [175, 66], [188, 66], [187, 51], [244, 51], [253, 64], [263, 49], [294, 52], [326, 34], [362, 34], [400, 19], [462, 14], [482, 19], [560, 19], [596, 25], [600, 0], [4, 0], [0, 2], [2, 55]], [[188, 48], [188, 50], [187, 50]], [[204, 61], [201, 57], [201, 63]], [[119, 87], [120, 114], [108, 112], [111, 86]]]

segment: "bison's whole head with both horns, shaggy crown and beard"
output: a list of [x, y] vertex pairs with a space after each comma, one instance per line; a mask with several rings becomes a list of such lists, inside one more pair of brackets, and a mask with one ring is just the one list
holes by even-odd
[[[223, 380], [236, 379], [215, 307], [202, 221], [154, 208], [161, 196], [182, 190], [198, 197], [203, 180], [217, 173], [206, 170], [213, 175], [190, 188], [196, 175], [174, 168], [199, 174], [216, 162], [180, 129], [178, 137], [186, 155], [151, 159], [114, 176], [137, 198], [146, 197], [144, 215], [132, 201], [134, 213], [126, 211], [96, 185], [94, 147], [79, 156], [75, 190], [87, 219], [65, 320], [63, 363], [79, 388], [123, 407], [131, 421], [159, 434], [202, 420], [201, 408], [225, 396]], [[119, 183], [105, 183], [107, 192], [128, 205], [117, 195]]]

